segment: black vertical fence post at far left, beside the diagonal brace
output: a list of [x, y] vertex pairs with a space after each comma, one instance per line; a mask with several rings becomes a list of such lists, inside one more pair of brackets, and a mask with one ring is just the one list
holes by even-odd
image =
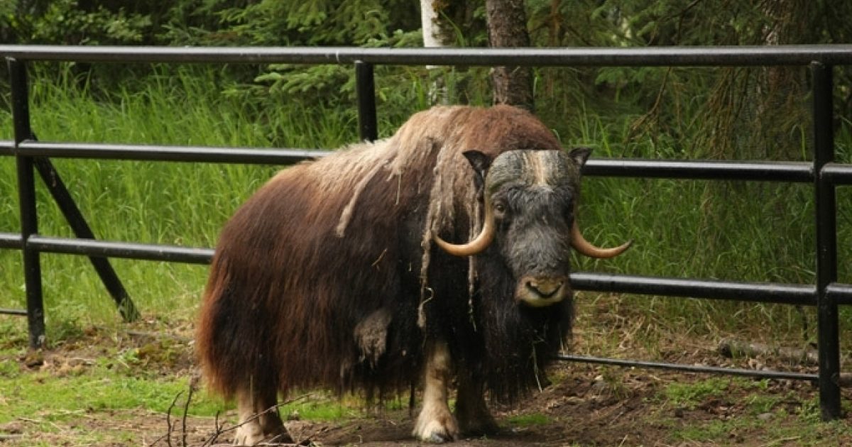
[[44, 347], [42, 267], [38, 251], [29, 248], [29, 244], [27, 244], [30, 236], [38, 232], [36, 179], [32, 157], [22, 156], [17, 151], [21, 141], [32, 139], [29, 87], [26, 82], [26, 64], [12, 58], [8, 58], [7, 63], [12, 83], [14, 158], [18, 174], [21, 252], [23, 253], [24, 284], [26, 287], [26, 319], [30, 330], [30, 348], [41, 349]]

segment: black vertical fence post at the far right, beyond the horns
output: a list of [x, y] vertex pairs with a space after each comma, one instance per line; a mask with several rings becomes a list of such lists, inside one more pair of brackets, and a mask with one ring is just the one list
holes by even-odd
[[840, 417], [840, 342], [838, 303], [826, 293], [838, 279], [837, 203], [835, 186], [822, 175], [834, 161], [832, 66], [812, 62], [814, 119], [814, 178], [816, 207], [816, 308], [820, 362], [822, 419]]

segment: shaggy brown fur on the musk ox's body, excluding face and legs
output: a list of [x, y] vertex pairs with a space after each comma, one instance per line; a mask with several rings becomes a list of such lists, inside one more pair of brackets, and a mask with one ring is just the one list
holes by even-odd
[[[471, 350], [540, 338], [491, 324], [487, 336], [506, 340], [453, 341], [477, 333], [475, 263], [431, 241], [465, 241], [481, 226], [470, 149], [561, 148], [519, 109], [436, 107], [256, 192], [222, 231], [204, 292], [196, 340], [211, 387], [228, 397], [249, 386], [400, 389], [417, 381], [430, 337], [470, 367], [482, 367]], [[516, 392], [504, 381], [493, 390]]]

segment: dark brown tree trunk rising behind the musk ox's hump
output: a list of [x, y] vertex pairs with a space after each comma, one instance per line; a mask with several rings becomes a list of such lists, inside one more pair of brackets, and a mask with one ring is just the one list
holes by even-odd
[[[488, 42], [492, 47], [528, 47], [527, 11], [523, 0], [486, 0]], [[533, 70], [528, 66], [498, 66], [492, 72], [494, 104], [534, 109]]]

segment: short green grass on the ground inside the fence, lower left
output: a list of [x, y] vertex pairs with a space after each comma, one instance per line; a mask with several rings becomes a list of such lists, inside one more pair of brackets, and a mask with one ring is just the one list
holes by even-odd
[[[3, 430], [26, 423], [26, 443], [73, 439], [75, 445], [121, 442], [122, 427], [127, 443], [138, 443], [140, 430], [134, 418], [145, 418], [145, 427], [166, 432], [166, 415], [180, 421], [183, 415], [216, 416], [222, 427], [236, 424], [234, 404], [197, 387], [190, 395], [193, 370], [187, 369], [192, 356], [190, 343], [170, 335], [134, 339], [121, 326], [114, 328], [64, 323], [55, 327], [57, 349], [45, 354], [43, 365], [28, 369], [26, 323], [21, 319], [0, 319], [0, 427]], [[144, 333], [170, 333], [175, 325], [187, 322], [147, 321], [132, 326]], [[172, 327], [172, 330], [158, 328]], [[183, 365], [183, 366], [181, 366]], [[187, 404], [187, 397], [191, 397]], [[399, 403], [397, 403], [399, 404]], [[185, 405], [187, 405], [185, 407]], [[294, 393], [290, 403], [279, 411], [285, 418], [308, 421], [341, 421], [362, 416], [365, 404], [357, 396], [337, 396], [315, 391]], [[103, 433], [76, 432], [81, 421], [105, 421]], [[162, 427], [159, 427], [162, 421]], [[101, 423], [101, 422], [99, 422]], [[11, 425], [8, 425], [11, 424]], [[0, 430], [0, 431], [3, 431]], [[73, 432], [73, 433], [70, 433]], [[98, 430], [95, 430], [98, 432]], [[37, 439], [32, 433], [38, 433]], [[105, 438], [98, 438], [102, 436]], [[41, 444], [37, 444], [41, 445]]]

